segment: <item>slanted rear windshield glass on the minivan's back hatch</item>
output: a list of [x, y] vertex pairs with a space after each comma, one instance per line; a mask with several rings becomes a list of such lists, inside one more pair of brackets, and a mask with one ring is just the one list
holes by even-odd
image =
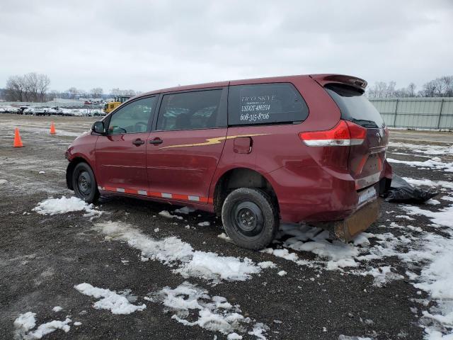
[[364, 128], [385, 128], [381, 114], [361, 91], [338, 84], [328, 84], [325, 89], [340, 108], [342, 119]]

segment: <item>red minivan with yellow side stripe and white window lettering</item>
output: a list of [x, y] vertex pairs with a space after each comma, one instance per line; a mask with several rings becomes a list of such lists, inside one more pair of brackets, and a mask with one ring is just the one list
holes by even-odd
[[115, 194], [215, 212], [248, 249], [267, 246], [280, 221], [348, 242], [377, 219], [391, 181], [366, 85], [314, 74], [141, 94], [69, 146], [67, 186], [88, 203]]

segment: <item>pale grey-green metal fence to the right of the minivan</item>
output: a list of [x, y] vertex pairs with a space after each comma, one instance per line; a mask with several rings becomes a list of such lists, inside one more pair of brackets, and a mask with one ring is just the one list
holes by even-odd
[[371, 99], [387, 126], [453, 130], [453, 98]]

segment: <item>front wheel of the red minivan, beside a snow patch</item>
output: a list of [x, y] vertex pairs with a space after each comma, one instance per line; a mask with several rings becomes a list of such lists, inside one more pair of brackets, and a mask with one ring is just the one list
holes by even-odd
[[76, 197], [86, 203], [96, 203], [99, 198], [98, 184], [91, 167], [81, 162], [72, 171], [72, 187]]

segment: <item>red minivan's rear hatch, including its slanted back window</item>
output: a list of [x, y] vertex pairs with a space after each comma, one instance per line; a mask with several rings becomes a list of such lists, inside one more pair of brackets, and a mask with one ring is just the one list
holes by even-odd
[[[382, 177], [388, 130], [382, 116], [365, 96], [363, 89], [346, 84], [325, 84], [324, 89], [336, 102], [341, 119], [362, 130], [363, 140], [351, 142], [348, 168], [356, 190], [372, 186]], [[348, 124], [349, 125], [349, 124]], [[358, 125], [358, 126], [356, 126]], [[360, 127], [360, 128], [359, 128]]]

